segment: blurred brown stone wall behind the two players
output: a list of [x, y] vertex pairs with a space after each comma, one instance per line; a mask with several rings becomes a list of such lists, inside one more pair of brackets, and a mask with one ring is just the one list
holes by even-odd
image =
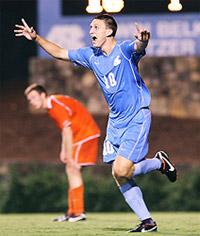
[[[71, 95], [93, 114], [108, 108], [94, 75], [71, 62], [33, 58], [30, 83], [44, 85], [51, 93]], [[140, 73], [151, 91], [155, 115], [200, 118], [200, 57], [147, 57]]]

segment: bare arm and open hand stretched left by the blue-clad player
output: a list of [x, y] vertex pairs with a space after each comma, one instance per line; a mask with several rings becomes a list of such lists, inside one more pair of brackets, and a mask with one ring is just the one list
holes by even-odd
[[60, 46], [46, 40], [36, 33], [33, 27], [29, 27], [24, 19], [22, 19], [23, 25], [15, 25], [14, 30], [16, 37], [25, 37], [28, 40], [35, 41], [42, 47], [49, 55], [61, 60], [68, 60], [68, 51]]

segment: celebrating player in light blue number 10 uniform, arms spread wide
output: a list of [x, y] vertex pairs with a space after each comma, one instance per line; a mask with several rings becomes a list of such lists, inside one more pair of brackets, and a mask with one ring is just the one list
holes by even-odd
[[163, 151], [152, 159], [145, 159], [151, 124], [150, 93], [139, 75], [138, 62], [145, 55], [150, 32], [136, 25], [135, 40], [118, 42], [115, 19], [102, 14], [94, 17], [90, 24], [92, 47], [70, 50], [38, 35], [24, 19], [22, 23], [16, 25], [17, 37], [25, 36], [51, 56], [71, 60], [94, 72], [110, 109], [104, 161], [112, 164], [113, 177], [125, 201], [141, 221], [129, 232], [156, 231], [157, 224], [146, 207], [135, 177], [160, 170], [174, 182], [176, 169]]

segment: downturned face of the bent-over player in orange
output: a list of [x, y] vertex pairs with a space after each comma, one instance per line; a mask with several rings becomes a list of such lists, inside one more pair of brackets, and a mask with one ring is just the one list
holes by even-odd
[[35, 109], [44, 108], [45, 94], [39, 94], [37, 91], [33, 90], [27, 95], [27, 100]]

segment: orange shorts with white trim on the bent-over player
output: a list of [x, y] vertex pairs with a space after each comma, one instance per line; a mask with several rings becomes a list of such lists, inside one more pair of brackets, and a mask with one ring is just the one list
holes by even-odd
[[74, 146], [73, 159], [81, 166], [95, 165], [97, 162], [98, 138]]

